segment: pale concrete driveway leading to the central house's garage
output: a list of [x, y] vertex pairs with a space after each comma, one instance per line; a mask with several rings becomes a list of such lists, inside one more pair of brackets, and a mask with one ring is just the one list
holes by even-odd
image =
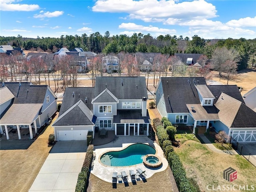
[[86, 141], [56, 142], [29, 192], [74, 192], [86, 150]]

